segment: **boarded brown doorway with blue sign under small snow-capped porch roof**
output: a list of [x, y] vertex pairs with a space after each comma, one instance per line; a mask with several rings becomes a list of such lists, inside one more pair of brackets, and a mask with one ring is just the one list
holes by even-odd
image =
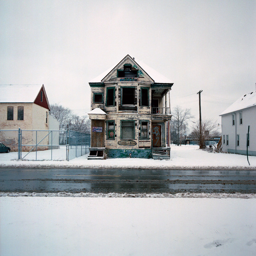
[[105, 120], [92, 120], [91, 147], [104, 148]]

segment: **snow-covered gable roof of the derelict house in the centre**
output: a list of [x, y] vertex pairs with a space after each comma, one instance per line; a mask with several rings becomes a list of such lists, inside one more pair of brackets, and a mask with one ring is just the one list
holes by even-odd
[[[130, 55], [126, 55], [125, 58], [130, 58], [134, 63], [136, 63], [137, 66], [140, 67], [154, 81], [154, 83], [172, 84], [172, 82], [168, 78], [161, 75], [160, 73], [158, 73], [156, 70], [149, 67], [145, 63], [143, 63], [143, 61], [140, 61], [138, 59], [135, 60], [134, 58], [131, 58]], [[125, 60], [125, 58], [123, 58], [122, 61]], [[117, 68], [122, 61], [120, 61], [117, 65], [109, 68], [108, 70], [106, 70], [105, 72], [103, 72], [102, 74], [97, 76], [96, 78], [89, 81], [89, 83], [100, 83], [100, 82], [102, 82], [102, 80], [106, 76], [108, 76], [108, 74], [111, 73], [115, 68]]]

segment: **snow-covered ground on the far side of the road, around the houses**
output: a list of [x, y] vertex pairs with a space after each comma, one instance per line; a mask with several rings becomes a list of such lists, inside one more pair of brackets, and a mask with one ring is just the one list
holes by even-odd
[[[10, 154], [10, 153], [9, 153]], [[43, 159], [42, 159], [43, 160]], [[256, 157], [239, 154], [212, 153], [199, 150], [198, 145], [171, 147], [170, 160], [141, 158], [119, 158], [106, 160], [87, 160], [87, 155], [70, 161], [19, 161], [0, 160], [0, 166], [41, 167], [41, 168], [140, 168], [140, 169], [220, 169], [256, 168]]]

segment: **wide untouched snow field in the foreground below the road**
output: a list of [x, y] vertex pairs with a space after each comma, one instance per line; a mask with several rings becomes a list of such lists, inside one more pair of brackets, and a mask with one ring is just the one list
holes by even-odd
[[0, 198], [2, 256], [253, 256], [256, 198]]

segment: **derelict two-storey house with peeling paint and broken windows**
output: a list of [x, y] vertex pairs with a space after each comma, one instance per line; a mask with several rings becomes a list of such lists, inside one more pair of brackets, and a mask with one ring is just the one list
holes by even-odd
[[170, 158], [169, 79], [127, 55], [89, 84], [88, 159]]

